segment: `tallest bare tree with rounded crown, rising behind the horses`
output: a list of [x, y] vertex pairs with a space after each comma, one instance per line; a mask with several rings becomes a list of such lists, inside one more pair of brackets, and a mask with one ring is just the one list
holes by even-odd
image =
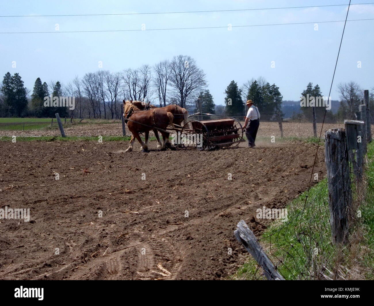
[[186, 108], [187, 103], [194, 101], [206, 86], [205, 73], [197, 67], [196, 61], [187, 55], [174, 56], [171, 62], [170, 82], [183, 108]]

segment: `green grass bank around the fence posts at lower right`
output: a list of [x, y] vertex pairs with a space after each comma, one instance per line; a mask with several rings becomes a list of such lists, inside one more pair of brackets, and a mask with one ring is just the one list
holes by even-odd
[[[374, 143], [368, 146], [367, 168], [367, 195], [358, 208], [362, 217], [350, 228], [351, 245], [338, 248], [331, 243], [326, 179], [287, 206], [287, 222], [273, 222], [264, 231], [260, 243], [285, 279], [319, 279], [315, 271], [324, 271], [322, 267], [328, 269], [323, 273], [329, 277], [341, 269], [340, 274], [350, 278], [355, 278], [350, 269], [359, 267], [360, 277], [374, 279]], [[364, 239], [352, 238], [356, 234]], [[264, 279], [252, 258], [232, 278]]]

